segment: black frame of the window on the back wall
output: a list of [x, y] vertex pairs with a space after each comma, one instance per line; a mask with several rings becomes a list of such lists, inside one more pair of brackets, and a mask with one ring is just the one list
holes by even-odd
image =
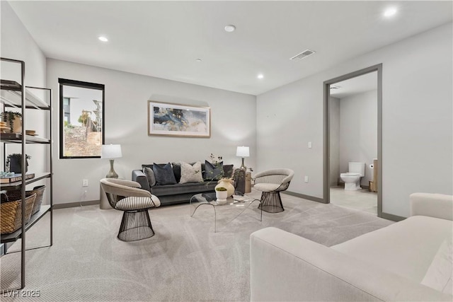
[[63, 86], [73, 86], [102, 91], [102, 144], [105, 144], [105, 85], [69, 79], [58, 79], [59, 83], [59, 158], [101, 158], [99, 156], [64, 156], [64, 97]]

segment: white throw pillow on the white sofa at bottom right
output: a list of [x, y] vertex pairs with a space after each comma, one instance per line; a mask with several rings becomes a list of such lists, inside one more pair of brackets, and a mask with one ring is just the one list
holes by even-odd
[[431, 262], [421, 284], [453, 295], [452, 238], [445, 239]]

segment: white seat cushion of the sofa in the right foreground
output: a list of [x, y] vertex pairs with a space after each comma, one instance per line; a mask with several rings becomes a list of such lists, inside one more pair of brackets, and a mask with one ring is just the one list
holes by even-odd
[[452, 237], [452, 230], [453, 221], [411, 216], [331, 248], [420, 284], [442, 241]]

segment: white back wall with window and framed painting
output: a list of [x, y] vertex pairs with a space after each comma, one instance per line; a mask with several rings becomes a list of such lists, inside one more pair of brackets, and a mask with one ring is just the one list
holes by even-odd
[[[142, 163], [204, 161], [210, 153], [223, 156], [224, 163], [241, 165], [236, 146], [250, 146], [249, 167], [256, 166], [256, 97], [230, 91], [140, 76], [94, 66], [47, 59], [47, 83], [58, 100], [58, 78], [105, 85], [105, 144], [121, 144], [122, 158], [115, 160], [120, 178], [130, 179]], [[211, 108], [211, 137], [148, 136], [147, 101], [156, 100]], [[58, 109], [57, 103], [55, 108]], [[54, 133], [58, 134], [58, 110]], [[55, 203], [99, 199], [99, 180], [108, 173], [107, 160], [59, 159], [54, 152]], [[82, 179], [88, 179], [84, 195]]]

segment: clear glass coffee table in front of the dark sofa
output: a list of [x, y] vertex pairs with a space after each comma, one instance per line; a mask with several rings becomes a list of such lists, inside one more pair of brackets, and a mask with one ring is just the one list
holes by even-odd
[[[211, 206], [214, 208], [214, 233], [217, 232], [217, 222], [221, 219], [222, 214], [229, 213], [229, 215], [223, 215], [222, 220], [226, 219], [225, 225], [234, 221], [239, 215], [241, 215], [253, 202], [260, 202], [260, 199], [253, 199], [247, 195], [243, 195], [240, 192], [235, 192], [233, 196], [228, 197], [225, 203], [219, 203], [216, 201], [215, 192], [205, 192], [195, 194], [190, 198], [190, 216], [193, 217], [197, 209], [201, 206]], [[263, 220], [263, 211], [260, 211], [260, 221]]]

